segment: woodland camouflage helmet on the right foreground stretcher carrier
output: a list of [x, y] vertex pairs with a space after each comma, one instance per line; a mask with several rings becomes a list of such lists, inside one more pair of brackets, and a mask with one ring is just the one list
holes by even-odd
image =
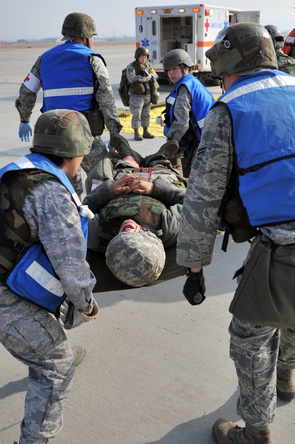
[[210, 60], [211, 73], [215, 78], [278, 69], [270, 35], [257, 23], [235, 23], [224, 28], [205, 55]]

